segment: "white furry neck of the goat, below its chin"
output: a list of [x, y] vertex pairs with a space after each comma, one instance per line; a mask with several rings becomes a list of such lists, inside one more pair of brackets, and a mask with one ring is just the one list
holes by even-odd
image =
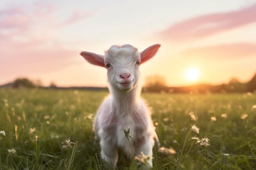
[[122, 114], [133, 113], [137, 108], [140, 99], [141, 86], [139, 83], [130, 91], [120, 91], [116, 88], [110, 87], [110, 94], [112, 95], [112, 104], [117, 109], [117, 112]]

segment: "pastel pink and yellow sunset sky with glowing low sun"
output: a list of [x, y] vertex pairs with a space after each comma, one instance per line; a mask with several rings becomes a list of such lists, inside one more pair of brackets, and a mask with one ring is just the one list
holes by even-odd
[[157, 55], [140, 66], [143, 81], [246, 82], [256, 73], [256, 1], [0, 0], [0, 85], [28, 77], [45, 86], [106, 86], [106, 69], [80, 51], [156, 43]]

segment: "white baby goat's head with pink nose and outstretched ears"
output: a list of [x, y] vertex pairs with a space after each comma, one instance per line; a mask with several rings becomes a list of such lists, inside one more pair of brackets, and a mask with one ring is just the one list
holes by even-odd
[[91, 64], [108, 70], [108, 81], [114, 88], [130, 91], [139, 79], [139, 65], [152, 58], [160, 45], [155, 44], [142, 52], [130, 45], [111, 46], [105, 55], [83, 51], [80, 53]]

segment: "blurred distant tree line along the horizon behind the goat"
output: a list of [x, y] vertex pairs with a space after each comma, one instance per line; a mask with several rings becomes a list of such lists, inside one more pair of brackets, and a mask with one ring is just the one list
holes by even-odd
[[[31, 81], [27, 78], [18, 78], [12, 83], [4, 84], [0, 87], [12, 88], [61, 88], [54, 82], [51, 82], [48, 87], [42, 85], [40, 80]], [[69, 89], [88, 89], [88, 90], [107, 90], [107, 88], [100, 87], [69, 87]], [[146, 78], [143, 91], [155, 93], [245, 93], [256, 92], [256, 74], [247, 83], [241, 83], [236, 78], [232, 78], [228, 84], [210, 85], [210, 84], [197, 84], [194, 86], [184, 87], [169, 87], [166, 79], [160, 75], [153, 75]]]

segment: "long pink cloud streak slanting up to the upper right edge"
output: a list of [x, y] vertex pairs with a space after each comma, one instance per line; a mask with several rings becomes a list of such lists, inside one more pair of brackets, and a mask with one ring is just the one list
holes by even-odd
[[170, 26], [160, 35], [174, 41], [204, 38], [209, 35], [256, 22], [256, 4], [237, 11], [202, 15]]

